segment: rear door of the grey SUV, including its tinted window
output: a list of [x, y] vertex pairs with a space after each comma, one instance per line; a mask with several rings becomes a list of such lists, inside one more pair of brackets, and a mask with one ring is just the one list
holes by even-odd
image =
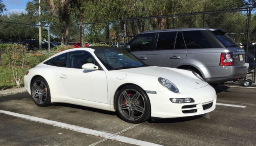
[[179, 67], [183, 65], [187, 49], [181, 31], [159, 32], [156, 49], [151, 52], [150, 65]]

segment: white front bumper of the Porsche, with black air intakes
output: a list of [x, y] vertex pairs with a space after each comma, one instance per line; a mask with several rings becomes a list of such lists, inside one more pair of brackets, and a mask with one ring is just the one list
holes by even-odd
[[[195, 116], [211, 112], [216, 107], [216, 92], [210, 85], [199, 89], [171, 91], [148, 94], [151, 104], [151, 116], [157, 118], [177, 118]], [[194, 103], [172, 103], [170, 98], [193, 98]], [[212, 104], [212, 105], [211, 105]]]

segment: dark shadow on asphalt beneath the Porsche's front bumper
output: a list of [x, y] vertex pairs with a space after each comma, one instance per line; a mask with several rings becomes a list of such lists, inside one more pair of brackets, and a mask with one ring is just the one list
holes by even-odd
[[196, 116], [186, 116], [181, 118], [150, 118], [149, 123], [176, 123], [176, 122], [186, 122], [190, 120], [196, 120], [198, 118], [204, 117], [206, 114], [200, 114]]

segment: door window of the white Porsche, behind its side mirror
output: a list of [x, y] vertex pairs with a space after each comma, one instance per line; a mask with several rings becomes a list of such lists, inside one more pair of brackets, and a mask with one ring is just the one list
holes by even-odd
[[86, 63], [93, 63], [98, 65], [94, 57], [87, 51], [74, 51], [69, 54], [68, 67], [82, 69], [82, 65]]

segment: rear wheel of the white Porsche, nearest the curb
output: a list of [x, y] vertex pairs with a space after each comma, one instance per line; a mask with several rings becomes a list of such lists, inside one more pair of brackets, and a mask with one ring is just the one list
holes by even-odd
[[43, 77], [37, 77], [31, 84], [31, 96], [40, 107], [46, 107], [51, 104], [50, 89], [48, 83]]

